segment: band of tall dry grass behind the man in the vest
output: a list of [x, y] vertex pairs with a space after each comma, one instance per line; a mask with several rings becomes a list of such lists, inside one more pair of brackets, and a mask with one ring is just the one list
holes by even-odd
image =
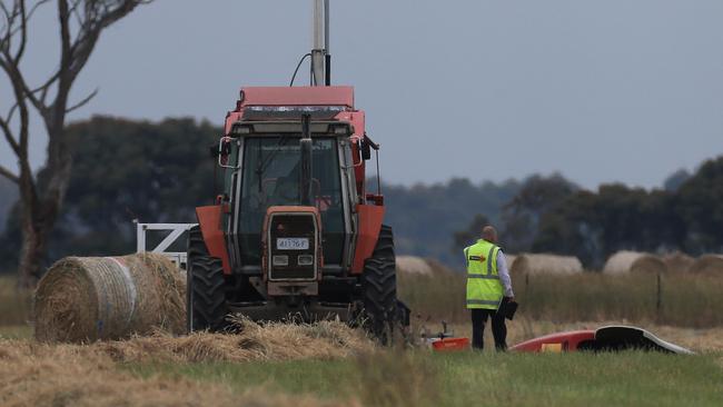
[[[723, 325], [723, 276], [667, 274], [513, 276], [521, 318], [556, 322], [627, 320], [677, 327]], [[465, 275], [399, 275], [398, 297], [423, 319], [466, 321]]]

